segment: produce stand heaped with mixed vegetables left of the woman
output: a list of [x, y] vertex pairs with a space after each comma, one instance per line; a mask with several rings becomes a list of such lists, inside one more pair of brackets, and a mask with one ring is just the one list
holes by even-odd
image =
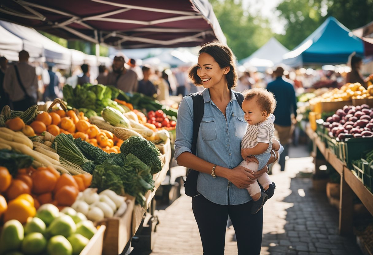
[[102, 85], [79, 100], [82, 88], [68, 89], [70, 104], [1, 111], [1, 255], [126, 251], [169, 170], [177, 110]]

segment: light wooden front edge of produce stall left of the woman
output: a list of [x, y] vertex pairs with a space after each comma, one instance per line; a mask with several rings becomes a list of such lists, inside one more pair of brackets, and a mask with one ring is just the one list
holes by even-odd
[[122, 253], [123, 249], [126, 248], [129, 241], [139, 229], [142, 217], [148, 210], [149, 204], [153, 199], [157, 188], [166, 177], [171, 160], [170, 139], [167, 139], [162, 147], [157, 147], [160, 149], [162, 154], [160, 158], [163, 161], [163, 168], [159, 173], [153, 175], [154, 190], [148, 191], [144, 195], [146, 198], [144, 207], [135, 205], [135, 198], [127, 195], [127, 210], [125, 213], [121, 213], [119, 208], [114, 217], [105, 220], [104, 224], [107, 229], [104, 236], [103, 255], [118, 255]]

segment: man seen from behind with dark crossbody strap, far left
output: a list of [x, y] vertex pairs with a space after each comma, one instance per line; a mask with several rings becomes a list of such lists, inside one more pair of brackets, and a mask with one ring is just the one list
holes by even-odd
[[19, 62], [5, 71], [4, 91], [9, 94], [13, 110], [25, 111], [37, 103], [38, 78], [35, 67], [28, 63], [29, 54], [21, 50]]

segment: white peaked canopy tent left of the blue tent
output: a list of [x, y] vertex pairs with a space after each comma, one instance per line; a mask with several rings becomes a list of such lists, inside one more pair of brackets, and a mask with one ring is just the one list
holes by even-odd
[[267, 67], [273, 67], [281, 63], [283, 54], [288, 52], [289, 50], [287, 48], [280, 44], [276, 38], [272, 37], [266, 44], [249, 57], [240, 60], [239, 63], [244, 66], [257, 67], [259, 71], [263, 71]]

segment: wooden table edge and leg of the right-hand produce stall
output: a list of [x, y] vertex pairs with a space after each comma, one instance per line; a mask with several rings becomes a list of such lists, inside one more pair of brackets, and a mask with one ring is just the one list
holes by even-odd
[[[352, 235], [353, 205], [352, 194], [355, 193], [361, 200], [370, 214], [373, 215], [373, 194], [363, 185], [355, 174], [337, 156], [325, 148], [325, 144], [309, 127], [306, 129], [307, 135], [314, 142], [314, 152], [319, 152], [325, 160], [341, 175], [341, 194], [339, 199], [339, 234]], [[317, 155], [316, 155], [317, 156]], [[316, 167], [317, 168], [317, 167]], [[316, 172], [318, 169], [316, 169]]]

